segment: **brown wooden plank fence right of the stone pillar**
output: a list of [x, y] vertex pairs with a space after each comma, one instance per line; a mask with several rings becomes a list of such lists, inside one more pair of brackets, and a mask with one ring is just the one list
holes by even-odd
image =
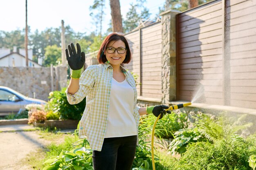
[[256, 0], [222, 2], [177, 15], [177, 98], [256, 108]]

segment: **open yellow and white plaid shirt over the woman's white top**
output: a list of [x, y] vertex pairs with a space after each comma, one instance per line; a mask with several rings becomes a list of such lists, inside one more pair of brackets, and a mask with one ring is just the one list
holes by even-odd
[[[133, 115], [138, 130], [139, 107], [136, 106], [137, 89], [135, 80], [132, 74], [122, 66], [121, 71], [135, 93]], [[70, 104], [77, 104], [86, 96], [86, 106], [80, 121], [79, 138], [83, 139], [87, 136], [92, 150], [101, 151], [103, 145], [108, 122], [112, 77], [113, 69], [108, 62], [91, 65], [80, 77], [79, 90], [74, 95], [70, 95], [66, 90], [67, 100]]]

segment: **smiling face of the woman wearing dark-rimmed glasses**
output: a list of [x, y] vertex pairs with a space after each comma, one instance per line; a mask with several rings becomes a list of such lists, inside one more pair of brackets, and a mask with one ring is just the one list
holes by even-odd
[[[104, 54], [106, 55], [107, 60], [109, 61], [109, 63], [112, 66], [120, 65], [125, 60], [126, 53], [127, 53], [125, 48], [126, 48], [125, 44], [122, 40], [110, 41], [108, 43], [106, 50], [104, 51]], [[119, 53], [117, 52], [117, 49], [118, 49]], [[112, 53], [113, 51], [115, 51], [115, 52]], [[124, 54], [120, 54], [123, 52], [124, 52]]]

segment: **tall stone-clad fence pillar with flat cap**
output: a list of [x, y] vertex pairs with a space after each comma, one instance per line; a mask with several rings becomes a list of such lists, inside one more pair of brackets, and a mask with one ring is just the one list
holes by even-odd
[[176, 15], [168, 10], [162, 16], [162, 104], [176, 100]]

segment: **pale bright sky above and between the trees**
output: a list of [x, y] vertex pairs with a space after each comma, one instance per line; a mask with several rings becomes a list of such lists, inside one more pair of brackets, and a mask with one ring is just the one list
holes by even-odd
[[[155, 18], [159, 12], [158, 7], [163, 7], [165, 0], [146, 0], [145, 6], [151, 13], [150, 18]], [[1, 0], [0, 30], [14, 31], [25, 28], [25, 0]], [[36, 29], [43, 31], [46, 28], [57, 28], [64, 24], [70, 25], [75, 32], [90, 32], [95, 30], [93, 18], [90, 16], [90, 6], [94, 0], [27, 0], [28, 25], [31, 32]], [[103, 33], [109, 28], [111, 20], [109, 0], [106, 0], [103, 20]], [[120, 0], [121, 14], [125, 18], [130, 8], [130, 3], [136, 0]]]

